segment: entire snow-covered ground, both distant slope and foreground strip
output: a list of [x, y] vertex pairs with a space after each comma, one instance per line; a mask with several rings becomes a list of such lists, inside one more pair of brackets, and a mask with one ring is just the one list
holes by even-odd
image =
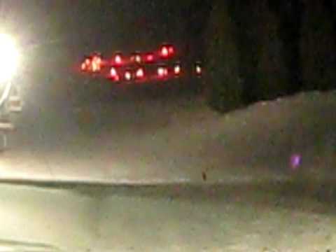
[[336, 250], [336, 92], [219, 115], [49, 84], [1, 153], [3, 251]]

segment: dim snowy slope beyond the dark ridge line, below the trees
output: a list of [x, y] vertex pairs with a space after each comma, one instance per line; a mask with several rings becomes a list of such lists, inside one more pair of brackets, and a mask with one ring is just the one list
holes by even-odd
[[[76, 101], [57, 90], [26, 94], [1, 178], [151, 184], [335, 176], [336, 92], [219, 115], [195, 97]], [[295, 169], [292, 155], [302, 158]]]

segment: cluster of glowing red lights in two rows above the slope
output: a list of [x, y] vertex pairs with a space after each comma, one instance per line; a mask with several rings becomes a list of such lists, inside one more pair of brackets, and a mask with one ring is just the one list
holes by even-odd
[[[108, 77], [113, 81], [120, 80], [143, 80], [146, 76], [144, 64], [158, 63], [155, 76], [158, 79], [167, 79], [172, 76], [175, 78], [181, 76], [182, 65], [176, 62], [172, 68], [167, 64], [162, 64], [167, 59], [172, 59], [175, 55], [173, 45], [162, 45], [157, 52], [147, 52], [141, 54], [135, 52], [130, 57], [125, 57], [121, 52], [116, 52], [112, 59], [103, 60], [101, 55], [94, 54], [87, 57], [81, 64], [81, 70], [92, 73], [99, 73], [104, 69], [104, 66], [109, 67]], [[127, 67], [125, 70], [124, 68]], [[200, 62], [195, 64], [195, 73], [197, 76], [202, 76], [202, 65]]]

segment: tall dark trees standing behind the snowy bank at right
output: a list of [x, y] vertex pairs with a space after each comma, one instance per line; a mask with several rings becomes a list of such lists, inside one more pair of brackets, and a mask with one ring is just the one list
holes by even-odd
[[229, 111], [304, 90], [334, 89], [335, 1], [215, 0], [207, 41], [207, 95]]

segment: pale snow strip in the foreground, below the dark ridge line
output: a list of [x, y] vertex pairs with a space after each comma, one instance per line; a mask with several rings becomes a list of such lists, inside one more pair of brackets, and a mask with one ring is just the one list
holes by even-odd
[[335, 204], [296, 184], [2, 184], [0, 199], [2, 251], [336, 249]]

